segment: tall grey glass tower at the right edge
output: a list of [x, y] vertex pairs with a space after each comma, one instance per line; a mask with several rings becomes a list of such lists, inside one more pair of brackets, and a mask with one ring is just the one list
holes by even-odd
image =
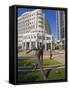
[[62, 47], [65, 47], [65, 13], [57, 11], [57, 36]]

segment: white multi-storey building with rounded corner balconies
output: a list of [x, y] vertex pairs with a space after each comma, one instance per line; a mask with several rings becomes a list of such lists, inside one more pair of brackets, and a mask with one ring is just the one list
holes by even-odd
[[48, 19], [46, 21], [41, 9], [23, 13], [18, 17], [18, 48], [32, 49], [41, 44], [45, 45], [45, 49], [52, 47], [52, 36], [49, 32]]

